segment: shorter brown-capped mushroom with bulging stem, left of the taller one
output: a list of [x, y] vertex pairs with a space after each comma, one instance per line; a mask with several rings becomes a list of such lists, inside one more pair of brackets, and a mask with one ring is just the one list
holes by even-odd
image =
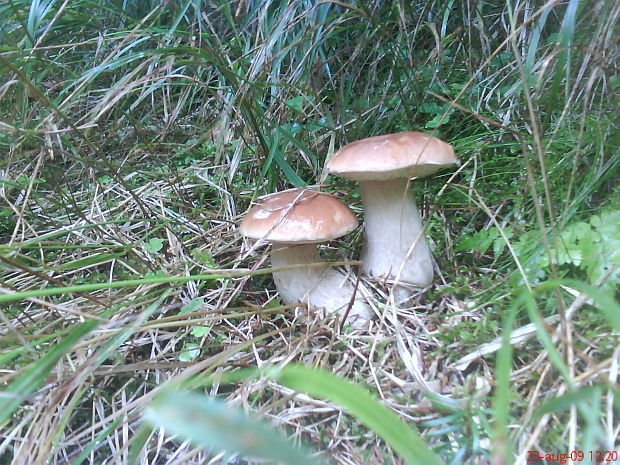
[[[276, 288], [285, 304], [304, 302], [309, 308], [343, 313], [355, 293], [354, 285], [339, 270], [321, 263], [317, 244], [343, 236], [358, 225], [353, 212], [331, 195], [306, 189], [290, 189], [263, 197], [247, 213], [241, 233], [273, 244], [271, 265]], [[370, 321], [369, 305], [356, 296], [347, 322], [363, 328]]]

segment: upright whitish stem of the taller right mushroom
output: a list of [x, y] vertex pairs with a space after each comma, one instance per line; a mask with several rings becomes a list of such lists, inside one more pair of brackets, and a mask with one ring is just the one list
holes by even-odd
[[[407, 179], [361, 181], [366, 243], [364, 272], [379, 279], [397, 279], [394, 296], [403, 301], [412, 287], [433, 281], [433, 260]], [[410, 249], [413, 246], [413, 250]]]

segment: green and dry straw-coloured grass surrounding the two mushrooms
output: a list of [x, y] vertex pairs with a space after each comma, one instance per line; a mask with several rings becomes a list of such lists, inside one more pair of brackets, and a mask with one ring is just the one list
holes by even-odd
[[[619, 15], [611, 0], [0, 4], [0, 463], [617, 449]], [[368, 332], [281, 305], [268, 250], [237, 231], [251, 201], [320, 185], [361, 217], [325, 159], [404, 130], [462, 162], [412, 183], [434, 286], [394, 308], [369, 283]], [[324, 255], [355, 269], [362, 242]], [[304, 380], [314, 368], [349, 381]], [[373, 399], [395, 416], [369, 421]], [[176, 422], [191, 405], [196, 428]], [[227, 411], [267, 447], [205, 431], [200, 415]], [[278, 436], [250, 417], [306, 452], [264, 455]]]

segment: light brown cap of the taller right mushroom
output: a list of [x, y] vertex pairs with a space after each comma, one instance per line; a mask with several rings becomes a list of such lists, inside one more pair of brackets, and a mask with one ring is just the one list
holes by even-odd
[[421, 132], [399, 132], [351, 142], [327, 162], [327, 171], [354, 181], [423, 178], [458, 163], [450, 144]]

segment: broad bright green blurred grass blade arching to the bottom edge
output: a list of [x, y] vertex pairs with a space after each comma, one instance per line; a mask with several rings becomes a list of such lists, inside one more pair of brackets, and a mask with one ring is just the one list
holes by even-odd
[[323, 397], [341, 405], [382, 438], [408, 464], [443, 464], [412, 426], [380, 404], [362, 386], [324, 370], [301, 365], [289, 365], [268, 375], [298, 392]]

